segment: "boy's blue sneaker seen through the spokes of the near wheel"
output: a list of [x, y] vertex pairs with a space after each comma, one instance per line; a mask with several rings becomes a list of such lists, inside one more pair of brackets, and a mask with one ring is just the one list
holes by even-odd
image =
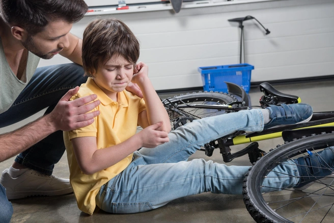
[[[294, 159], [299, 173], [299, 182], [293, 188], [303, 190], [324, 177], [334, 177], [334, 147]], [[333, 181], [334, 182], [334, 181]]]

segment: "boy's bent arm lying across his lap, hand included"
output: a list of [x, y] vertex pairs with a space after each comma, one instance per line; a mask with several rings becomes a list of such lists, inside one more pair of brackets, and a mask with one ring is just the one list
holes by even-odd
[[96, 137], [72, 138], [75, 158], [82, 173], [94, 174], [115, 165], [141, 147], [154, 148], [168, 142], [168, 133], [156, 130], [161, 126], [161, 122], [151, 125], [118, 145], [99, 150]]

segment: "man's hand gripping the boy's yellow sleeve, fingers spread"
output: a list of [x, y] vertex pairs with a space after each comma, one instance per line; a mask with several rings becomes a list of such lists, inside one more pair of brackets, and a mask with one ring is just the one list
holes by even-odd
[[70, 101], [70, 98], [78, 91], [79, 87], [69, 90], [47, 115], [50, 123], [54, 126], [54, 131], [70, 131], [88, 126], [94, 122], [94, 117], [100, 114], [98, 110], [88, 113], [100, 104], [99, 100], [94, 101], [97, 98], [96, 95]]

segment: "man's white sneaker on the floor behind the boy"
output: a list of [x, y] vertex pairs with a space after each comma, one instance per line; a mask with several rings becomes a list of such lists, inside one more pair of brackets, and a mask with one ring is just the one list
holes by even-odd
[[32, 169], [22, 169], [20, 172], [23, 173], [12, 177], [9, 169], [6, 169], [1, 176], [0, 183], [6, 188], [8, 200], [73, 192], [69, 179], [41, 174]]

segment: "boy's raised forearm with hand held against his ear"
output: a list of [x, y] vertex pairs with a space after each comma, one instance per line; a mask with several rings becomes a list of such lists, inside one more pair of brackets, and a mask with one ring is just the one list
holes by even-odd
[[148, 125], [162, 121], [162, 126], [157, 130], [170, 132], [171, 123], [168, 113], [148, 78], [147, 65], [143, 62], [139, 62], [135, 68], [138, 72], [133, 75], [132, 82], [136, 83], [141, 88], [146, 105], [146, 110], [142, 111], [138, 117], [138, 124], [146, 128]]

